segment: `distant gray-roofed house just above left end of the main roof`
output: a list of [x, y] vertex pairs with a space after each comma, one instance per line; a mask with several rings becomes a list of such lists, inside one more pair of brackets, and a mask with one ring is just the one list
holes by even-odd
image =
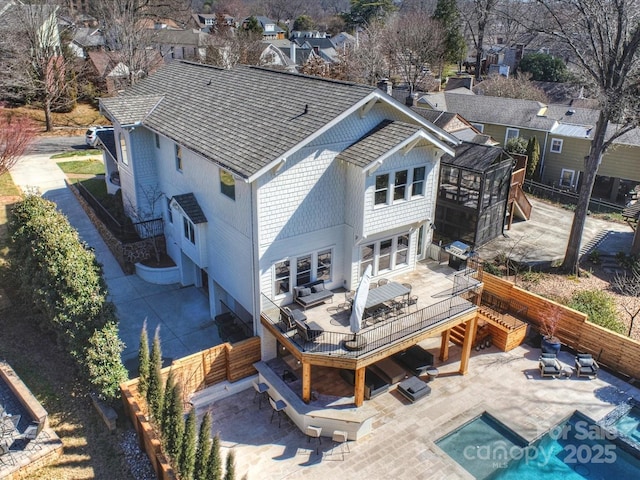
[[175, 30], [169, 28], [151, 31], [149, 42], [160, 52], [165, 62], [171, 60], [204, 61], [211, 36], [199, 30]]

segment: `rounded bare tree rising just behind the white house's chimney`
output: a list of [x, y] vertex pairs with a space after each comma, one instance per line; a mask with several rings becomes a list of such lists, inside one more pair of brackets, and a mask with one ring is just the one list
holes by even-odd
[[387, 24], [389, 62], [409, 87], [420, 89], [431, 77], [430, 69], [440, 68], [445, 56], [445, 32], [427, 13], [395, 17]]

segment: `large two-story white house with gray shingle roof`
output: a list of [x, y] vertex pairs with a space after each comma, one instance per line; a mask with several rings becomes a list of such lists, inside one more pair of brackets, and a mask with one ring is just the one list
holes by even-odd
[[459, 141], [374, 87], [259, 67], [176, 61], [115, 98], [125, 205], [164, 195], [167, 250], [211, 315], [232, 310], [263, 336], [265, 299], [321, 280], [354, 288], [411, 272], [431, 242], [440, 158]]

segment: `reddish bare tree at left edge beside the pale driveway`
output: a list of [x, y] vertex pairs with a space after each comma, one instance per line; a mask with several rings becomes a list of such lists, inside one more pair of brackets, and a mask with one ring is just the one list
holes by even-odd
[[0, 175], [13, 167], [36, 136], [36, 127], [27, 117], [0, 109]]

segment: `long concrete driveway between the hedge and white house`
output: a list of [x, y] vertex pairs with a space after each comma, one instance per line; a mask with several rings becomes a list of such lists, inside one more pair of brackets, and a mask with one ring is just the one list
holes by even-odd
[[135, 275], [124, 274], [76, 197], [66, 187], [65, 174], [50, 159], [50, 154], [22, 157], [11, 169], [11, 177], [23, 192], [39, 192], [55, 202], [80, 237], [94, 248], [96, 258], [103, 266], [109, 298], [118, 312], [120, 338], [126, 345], [122, 358], [130, 372], [136, 373], [140, 332], [145, 320], [150, 337], [160, 326], [165, 364], [221, 343], [209, 316], [209, 299], [201, 289], [181, 288], [178, 284], [153, 285]]

